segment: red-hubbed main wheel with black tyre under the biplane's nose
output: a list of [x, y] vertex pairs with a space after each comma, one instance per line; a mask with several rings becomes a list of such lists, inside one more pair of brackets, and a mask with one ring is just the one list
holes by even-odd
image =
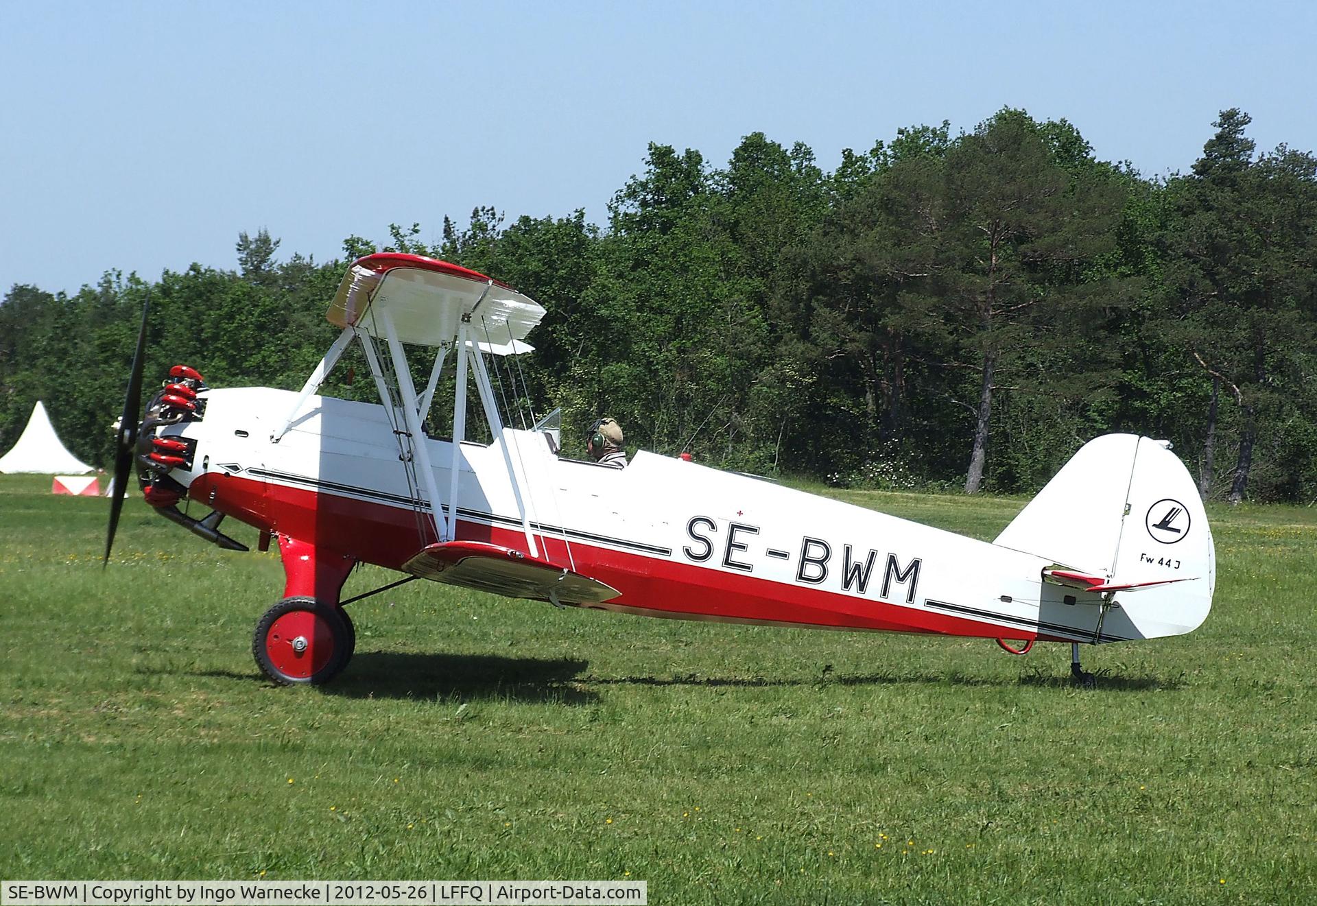
[[275, 682], [320, 685], [348, 664], [356, 632], [338, 607], [315, 598], [284, 598], [255, 624], [252, 654]]

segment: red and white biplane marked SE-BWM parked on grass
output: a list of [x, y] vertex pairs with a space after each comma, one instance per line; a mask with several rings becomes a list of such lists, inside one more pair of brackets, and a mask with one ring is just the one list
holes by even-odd
[[[138, 420], [144, 309], [115, 486], [136, 465], [162, 516], [223, 548], [246, 549], [225, 518], [255, 527], [261, 549], [277, 543], [283, 597], [257, 622], [253, 653], [278, 683], [323, 683], [350, 661], [344, 604], [365, 595], [341, 591], [357, 564], [558, 607], [972, 636], [1013, 653], [1069, 643], [1088, 683], [1081, 644], [1185, 633], [1208, 615], [1212, 532], [1164, 441], [1089, 441], [993, 543], [689, 457], [640, 450], [608, 469], [562, 454], [558, 411], [504, 421], [512, 362], [544, 313], [452, 263], [366, 255], [329, 304], [341, 332], [299, 392], [208, 387], [178, 365]], [[319, 395], [350, 344], [378, 403]], [[408, 354], [423, 357], [416, 378]], [[450, 432], [432, 436], [433, 406], [446, 421], [433, 399], [445, 371]], [[468, 432], [477, 411], [481, 440]]]

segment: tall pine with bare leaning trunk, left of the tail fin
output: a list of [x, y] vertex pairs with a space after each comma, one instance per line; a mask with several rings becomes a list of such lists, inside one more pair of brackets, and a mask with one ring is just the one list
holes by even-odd
[[[1064, 158], [1048, 144], [1056, 129], [1011, 109], [950, 146], [907, 142], [865, 199], [886, 221], [871, 244], [889, 312], [881, 323], [959, 374], [948, 375], [952, 392], [972, 394], [959, 400], [973, 417], [967, 493], [984, 482], [1002, 378], [1035, 392], [1055, 385], [1058, 360], [1084, 344], [1092, 320], [1084, 315], [1127, 294], [1089, 273], [1112, 248], [1123, 188], [1102, 169], [1079, 166], [1075, 149], [1087, 144], [1059, 132], [1068, 138]], [[1059, 329], [1064, 342], [1048, 344]]]

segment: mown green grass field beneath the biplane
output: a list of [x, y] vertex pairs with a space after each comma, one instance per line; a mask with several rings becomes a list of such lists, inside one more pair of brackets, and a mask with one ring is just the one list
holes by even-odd
[[[1180, 639], [556, 611], [412, 583], [265, 682], [278, 558], [0, 477], [0, 876], [636, 878], [651, 903], [1317, 901], [1317, 512], [1212, 511]], [[1022, 500], [846, 493], [992, 537]], [[241, 527], [238, 527], [241, 528]], [[254, 539], [246, 533], [246, 541]], [[363, 569], [346, 594], [387, 581]]]

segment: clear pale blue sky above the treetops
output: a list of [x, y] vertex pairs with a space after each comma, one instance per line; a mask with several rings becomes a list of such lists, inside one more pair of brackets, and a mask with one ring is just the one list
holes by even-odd
[[0, 291], [317, 261], [478, 204], [605, 205], [656, 141], [765, 132], [831, 170], [1004, 105], [1187, 170], [1226, 107], [1317, 149], [1312, 3], [30, 3], [0, 0]]

